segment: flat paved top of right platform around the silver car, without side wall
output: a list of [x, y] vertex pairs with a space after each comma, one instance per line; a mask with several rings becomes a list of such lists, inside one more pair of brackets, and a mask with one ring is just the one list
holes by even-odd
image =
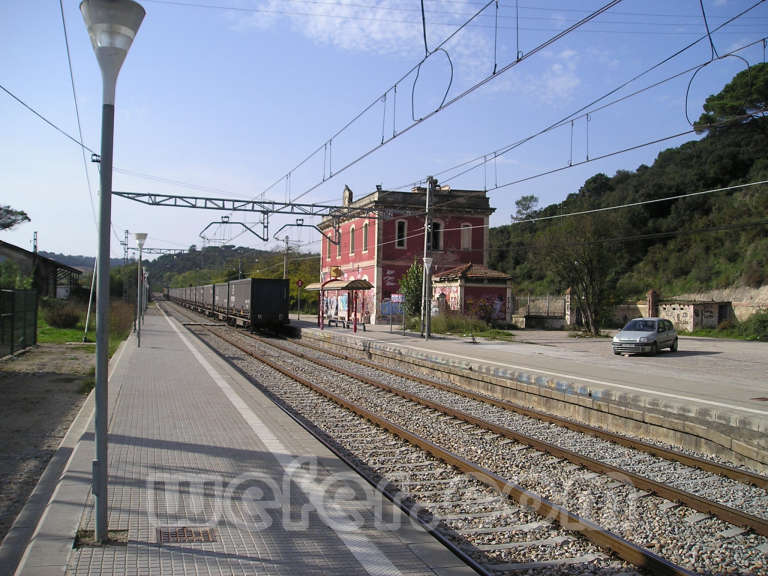
[[[292, 322], [316, 330], [317, 320], [301, 316]], [[456, 361], [483, 363], [584, 385], [742, 414], [765, 422], [768, 430], [768, 343], [681, 337], [678, 352], [656, 356], [615, 356], [610, 338], [572, 338], [563, 331], [519, 330], [515, 341], [494, 342], [469, 337], [403, 334], [398, 326], [366, 326], [356, 336], [416, 353]], [[325, 327], [352, 335], [351, 329]], [[761, 400], [762, 399], [762, 400]]]

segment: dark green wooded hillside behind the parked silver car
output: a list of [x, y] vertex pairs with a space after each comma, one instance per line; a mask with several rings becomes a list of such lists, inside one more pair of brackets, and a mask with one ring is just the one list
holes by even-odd
[[[597, 174], [563, 202], [537, 209], [518, 201], [520, 220], [645, 202], [768, 180], [768, 66], [744, 73], [707, 99], [697, 128], [706, 135], [659, 154], [652, 166]], [[734, 87], [735, 86], [735, 87]], [[734, 90], [742, 90], [734, 96]], [[725, 104], [723, 104], [725, 102]], [[741, 106], [734, 104], [741, 102]], [[534, 222], [490, 231], [491, 268], [520, 291], [560, 292], [577, 283], [604, 303], [730, 286], [768, 284], [768, 186]], [[600, 276], [584, 278], [580, 269]]]

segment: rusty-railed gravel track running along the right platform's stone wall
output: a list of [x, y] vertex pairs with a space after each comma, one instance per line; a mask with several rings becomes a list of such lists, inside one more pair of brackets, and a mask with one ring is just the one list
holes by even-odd
[[[768, 478], [759, 474], [602, 430], [598, 430], [599, 438], [604, 442], [596, 445], [589, 438], [578, 437], [578, 433], [581, 432], [580, 425], [565, 421], [569, 424], [566, 427], [568, 430], [562, 430], [553, 428], [550, 425], [553, 423], [552, 420], [546, 420], [542, 424], [540, 418], [531, 421], [530, 418], [510, 417], [506, 411], [513, 410], [518, 413], [516, 406], [456, 386], [382, 368], [370, 362], [351, 359], [345, 354], [328, 352], [305, 344], [297, 346], [297, 343], [293, 343], [292, 347], [281, 346], [274, 342], [269, 344], [282, 348], [288, 353], [302, 355], [301, 348], [310, 348], [320, 353], [321, 357], [313, 358], [305, 355], [304, 357], [318, 365], [343, 371], [350, 377], [367, 378], [369, 384], [423, 406], [434, 408], [500, 436], [566, 459], [593, 472], [623, 476], [636, 488], [652, 491], [667, 500], [680, 502], [699, 512], [714, 514], [729, 523], [744, 526], [757, 534], [768, 536], [768, 493], [765, 490], [768, 487]], [[297, 347], [299, 351], [295, 351]], [[328, 359], [323, 359], [322, 356], [327, 356]], [[339, 359], [344, 360], [345, 363], [339, 365]], [[373, 373], [374, 377], [376, 372], [386, 372], [399, 378], [400, 382], [381, 384], [375, 379], [368, 378], [366, 374], [354, 371], [356, 366], [370, 368], [369, 372]], [[430, 388], [437, 388], [449, 394], [435, 394]], [[463, 400], [464, 398], [469, 401]], [[503, 411], [490, 409], [487, 404]], [[523, 410], [523, 412], [523, 416], [527, 416], [526, 413], [529, 411]], [[569, 430], [575, 433], [568, 434]], [[593, 427], [587, 427], [589, 435], [594, 434], [596, 430]], [[611, 443], [619, 446], [611, 446]], [[682, 466], [670, 468], [669, 462], [676, 462]], [[713, 485], [713, 474], [730, 481], [717, 481]], [[724, 504], [725, 501], [731, 503]], [[750, 512], [750, 509], [755, 510], [755, 513]]]

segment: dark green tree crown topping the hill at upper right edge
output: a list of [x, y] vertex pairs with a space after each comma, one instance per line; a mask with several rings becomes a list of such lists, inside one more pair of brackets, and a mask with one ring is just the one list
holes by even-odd
[[[742, 70], [719, 94], [704, 102], [704, 113], [695, 123], [696, 130], [709, 130], [715, 124], [744, 122], [744, 116], [765, 115], [768, 108], [768, 64]], [[749, 120], [747, 118], [746, 120]]]

